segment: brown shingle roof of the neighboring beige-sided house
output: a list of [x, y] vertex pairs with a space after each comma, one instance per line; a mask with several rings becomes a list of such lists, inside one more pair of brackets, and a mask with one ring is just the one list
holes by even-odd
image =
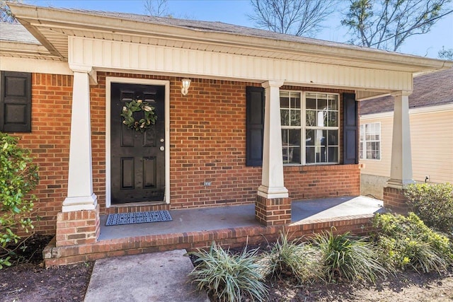
[[[423, 74], [413, 78], [413, 93], [409, 108], [438, 106], [453, 103], [453, 68]], [[360, 115], [394, 110], [394, 98], [385, 96], [359, 102]]]

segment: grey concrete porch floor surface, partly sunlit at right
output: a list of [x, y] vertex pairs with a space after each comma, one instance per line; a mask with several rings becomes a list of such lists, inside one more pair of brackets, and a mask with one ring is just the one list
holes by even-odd
[[[364, 196], [307, 199], [292, 202], [292, 223], [341, 219], [342, 217], [373, 215], [384, 211], [382, 200]], [[107, 215], [101, 215], [98, 241], [169, 233], [214, 231], [227, 228], [261, 226], [255, 219], [255, 205], [175, 209], [169, 211], [173, 221], [105, 226]]]

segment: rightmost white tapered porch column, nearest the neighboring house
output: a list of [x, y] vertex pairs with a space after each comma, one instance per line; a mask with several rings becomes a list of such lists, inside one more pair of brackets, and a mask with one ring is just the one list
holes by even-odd
[[409, 124], [409, 95], [412, 91], [391, 93], [394, 97], [394, 129], [391, 143], [391, 168], [389, 187], [402, 189], [413, 183], [411, 126]]

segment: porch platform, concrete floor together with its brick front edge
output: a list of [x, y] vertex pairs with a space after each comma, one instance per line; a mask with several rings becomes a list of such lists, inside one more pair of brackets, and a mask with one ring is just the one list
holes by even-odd
[[254, 218], [254, 204], [200, 209], [170, 210], [173, 221], [105, 226], [96, 243], [56, 247], [55, 240], [45, 249], [46, 266], [97, 260], [173, 249], [208, 248], [212, 241], [226, 247], [273, 242], [281, 232], [292, 238], [335, 228], [366, 235], [371, 219], [385, 211], [383, 202], [369, 197], [334, 197], [292, 202], [291, 223], [263, 226]]

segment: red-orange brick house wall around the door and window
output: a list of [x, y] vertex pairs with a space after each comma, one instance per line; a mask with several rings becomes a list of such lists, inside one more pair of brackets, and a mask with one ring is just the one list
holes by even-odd
[[[170, 81], [169, 206], [105, 208], [106, 76]], [[255, 202], [261, 168], [245, 165], [246, 86], [260, 84], [192, 79], [188, 95], [183, 96], [178, 77], [98, 72], [98, 84], [91, 86], [91, 146], [93, 191], [98, 196], [101, 214]], [[282, 89], [335, 92], [340, 96], [351, 92], [294, 86]], [[40, 165], [41, 180], [35, 190], [40, 198], [35, 203], [35, 214], [42, 216], [41, 221], [35, 223], [40, 233], [55, 233], [57, 213], [67, 194], [71, 94], [71, 76], [33, 74], [32, 132], [13, 134], [21, 138], [21, 146], [32, 150], [35, 162]], [[343, 114], [340, 119], [343, 120]], [[342, 141], [340, 128], [340, 146]], [[357, 165], [285, 166], [284, 171], [292, 200], [360, 192]], [[205, 187], [205, 181], [212, 185]]]

